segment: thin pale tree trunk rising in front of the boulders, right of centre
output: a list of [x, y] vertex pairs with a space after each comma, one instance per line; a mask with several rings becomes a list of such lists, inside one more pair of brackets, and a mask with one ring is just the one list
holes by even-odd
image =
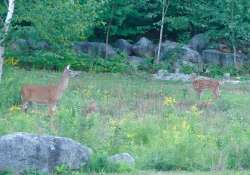
[[167, 14], [167, 10], [169, 7], [170, 0], [161, 0], [162, 5], [162, 13], [161, 13], [161, 29], [160, 29], [160, 38], [159, 38], [159, 45], [156, 57], [156, 64], [160, 62], [160, 54], [161, 54], [161, 45], [162, 45], [162, 37], [163, 37], [163, 29], [165, 24], [165, 16]]

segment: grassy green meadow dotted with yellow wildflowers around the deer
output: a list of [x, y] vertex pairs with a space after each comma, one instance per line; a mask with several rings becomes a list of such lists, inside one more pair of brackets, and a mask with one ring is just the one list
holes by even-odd
[[[21, 111], [23, 84], [55, 84], [60, 75], [6, 67], [0, 85], [0, 135], [70, 137], [93, 149], [84, 170], [89, 172], [250, 173], [249, 83], [223, 84], [219, 99], [206, 91], [199, 100], [191, 83], [156, 81], [144, 73], [83, 72], [70, 80], [53, 117], [37, 104], [27, 114]], [[93, 104], [97, 107], [91, 111]], [[134, 156], [135, 167], [108, 164], [109, 155], [121, 152]]]

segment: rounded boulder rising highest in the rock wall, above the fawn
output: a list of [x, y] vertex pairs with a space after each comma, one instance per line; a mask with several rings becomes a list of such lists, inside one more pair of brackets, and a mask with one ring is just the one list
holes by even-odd
[[200, 33], [194, 35], [190, 40], [188, 47], [201, 53], [209, 44], [209, 38], [206, 34]]

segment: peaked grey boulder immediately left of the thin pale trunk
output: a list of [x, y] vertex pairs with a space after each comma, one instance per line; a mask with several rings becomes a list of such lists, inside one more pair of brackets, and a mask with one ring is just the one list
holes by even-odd
[[142, 37], [137, 43], [132, 46], [132, 51], [135, 56], [139, 57], [154, 57], [155, 45], [149, 39]]

